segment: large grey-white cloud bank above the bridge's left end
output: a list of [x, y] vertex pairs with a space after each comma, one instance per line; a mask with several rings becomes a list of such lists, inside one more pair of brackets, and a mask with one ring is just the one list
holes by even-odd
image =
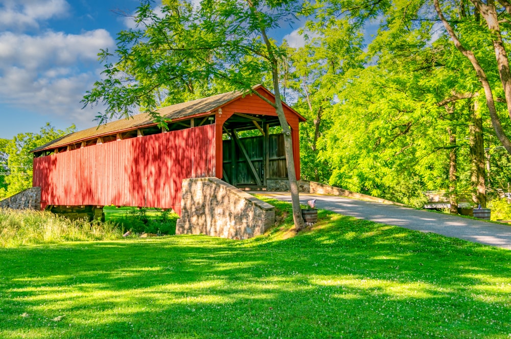
[[99, 72], [83, 69], [87, 63], [99, 66], [97, 53], [113, 45], [103, 29], [79, 35], [0, 34], [0, 102], [41, 115], [90, 122], [96, 110], [82, 110], [80, 100]]

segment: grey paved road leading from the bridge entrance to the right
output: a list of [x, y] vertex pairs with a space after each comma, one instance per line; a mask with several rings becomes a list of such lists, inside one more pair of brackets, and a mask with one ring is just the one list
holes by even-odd
[[[291, 201], [290, 193], [252, 193]], [[301, 204], [307, 204], [307, 201], [312, 199], [316, 199], [317, 208], [330, 210], [342, 215], [396, 225], [410, 230], [433, 232], [447, 237], [460, 238], [511, 250], [511, 227], [504, 224], [339, 196], [300, 194]]]

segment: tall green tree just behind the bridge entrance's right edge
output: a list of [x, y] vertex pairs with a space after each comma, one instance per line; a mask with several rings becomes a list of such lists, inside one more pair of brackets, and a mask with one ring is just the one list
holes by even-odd
[[330, 161], [320, 157], [324, 133], [332, 125], [332, 107], [344, 76], [363, 67], [364, 39], [347, 18], [309, 21], [303, 34], [309, 39], [293, 54], [295, 77], [290, 83], [298, 94], [294, 107], [308, 118], [300, 135], [301, 168], [308, 179], [328, 182]]

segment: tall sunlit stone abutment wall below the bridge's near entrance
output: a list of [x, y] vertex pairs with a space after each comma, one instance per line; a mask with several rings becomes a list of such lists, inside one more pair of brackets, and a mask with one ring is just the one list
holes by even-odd
[[184, 179], [176, 234], [248, 239], [275, 223], [275, 208], [215, 177]]

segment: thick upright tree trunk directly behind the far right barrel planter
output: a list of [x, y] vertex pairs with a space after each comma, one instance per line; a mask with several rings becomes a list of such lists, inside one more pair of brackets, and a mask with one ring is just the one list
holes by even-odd
[[474, 102], [470, 131], [472, 200], [475, 204], [486, 207], [486, 184], [484, 164], [484, 139], [482, 132], [482, 115], [477, 101]]

